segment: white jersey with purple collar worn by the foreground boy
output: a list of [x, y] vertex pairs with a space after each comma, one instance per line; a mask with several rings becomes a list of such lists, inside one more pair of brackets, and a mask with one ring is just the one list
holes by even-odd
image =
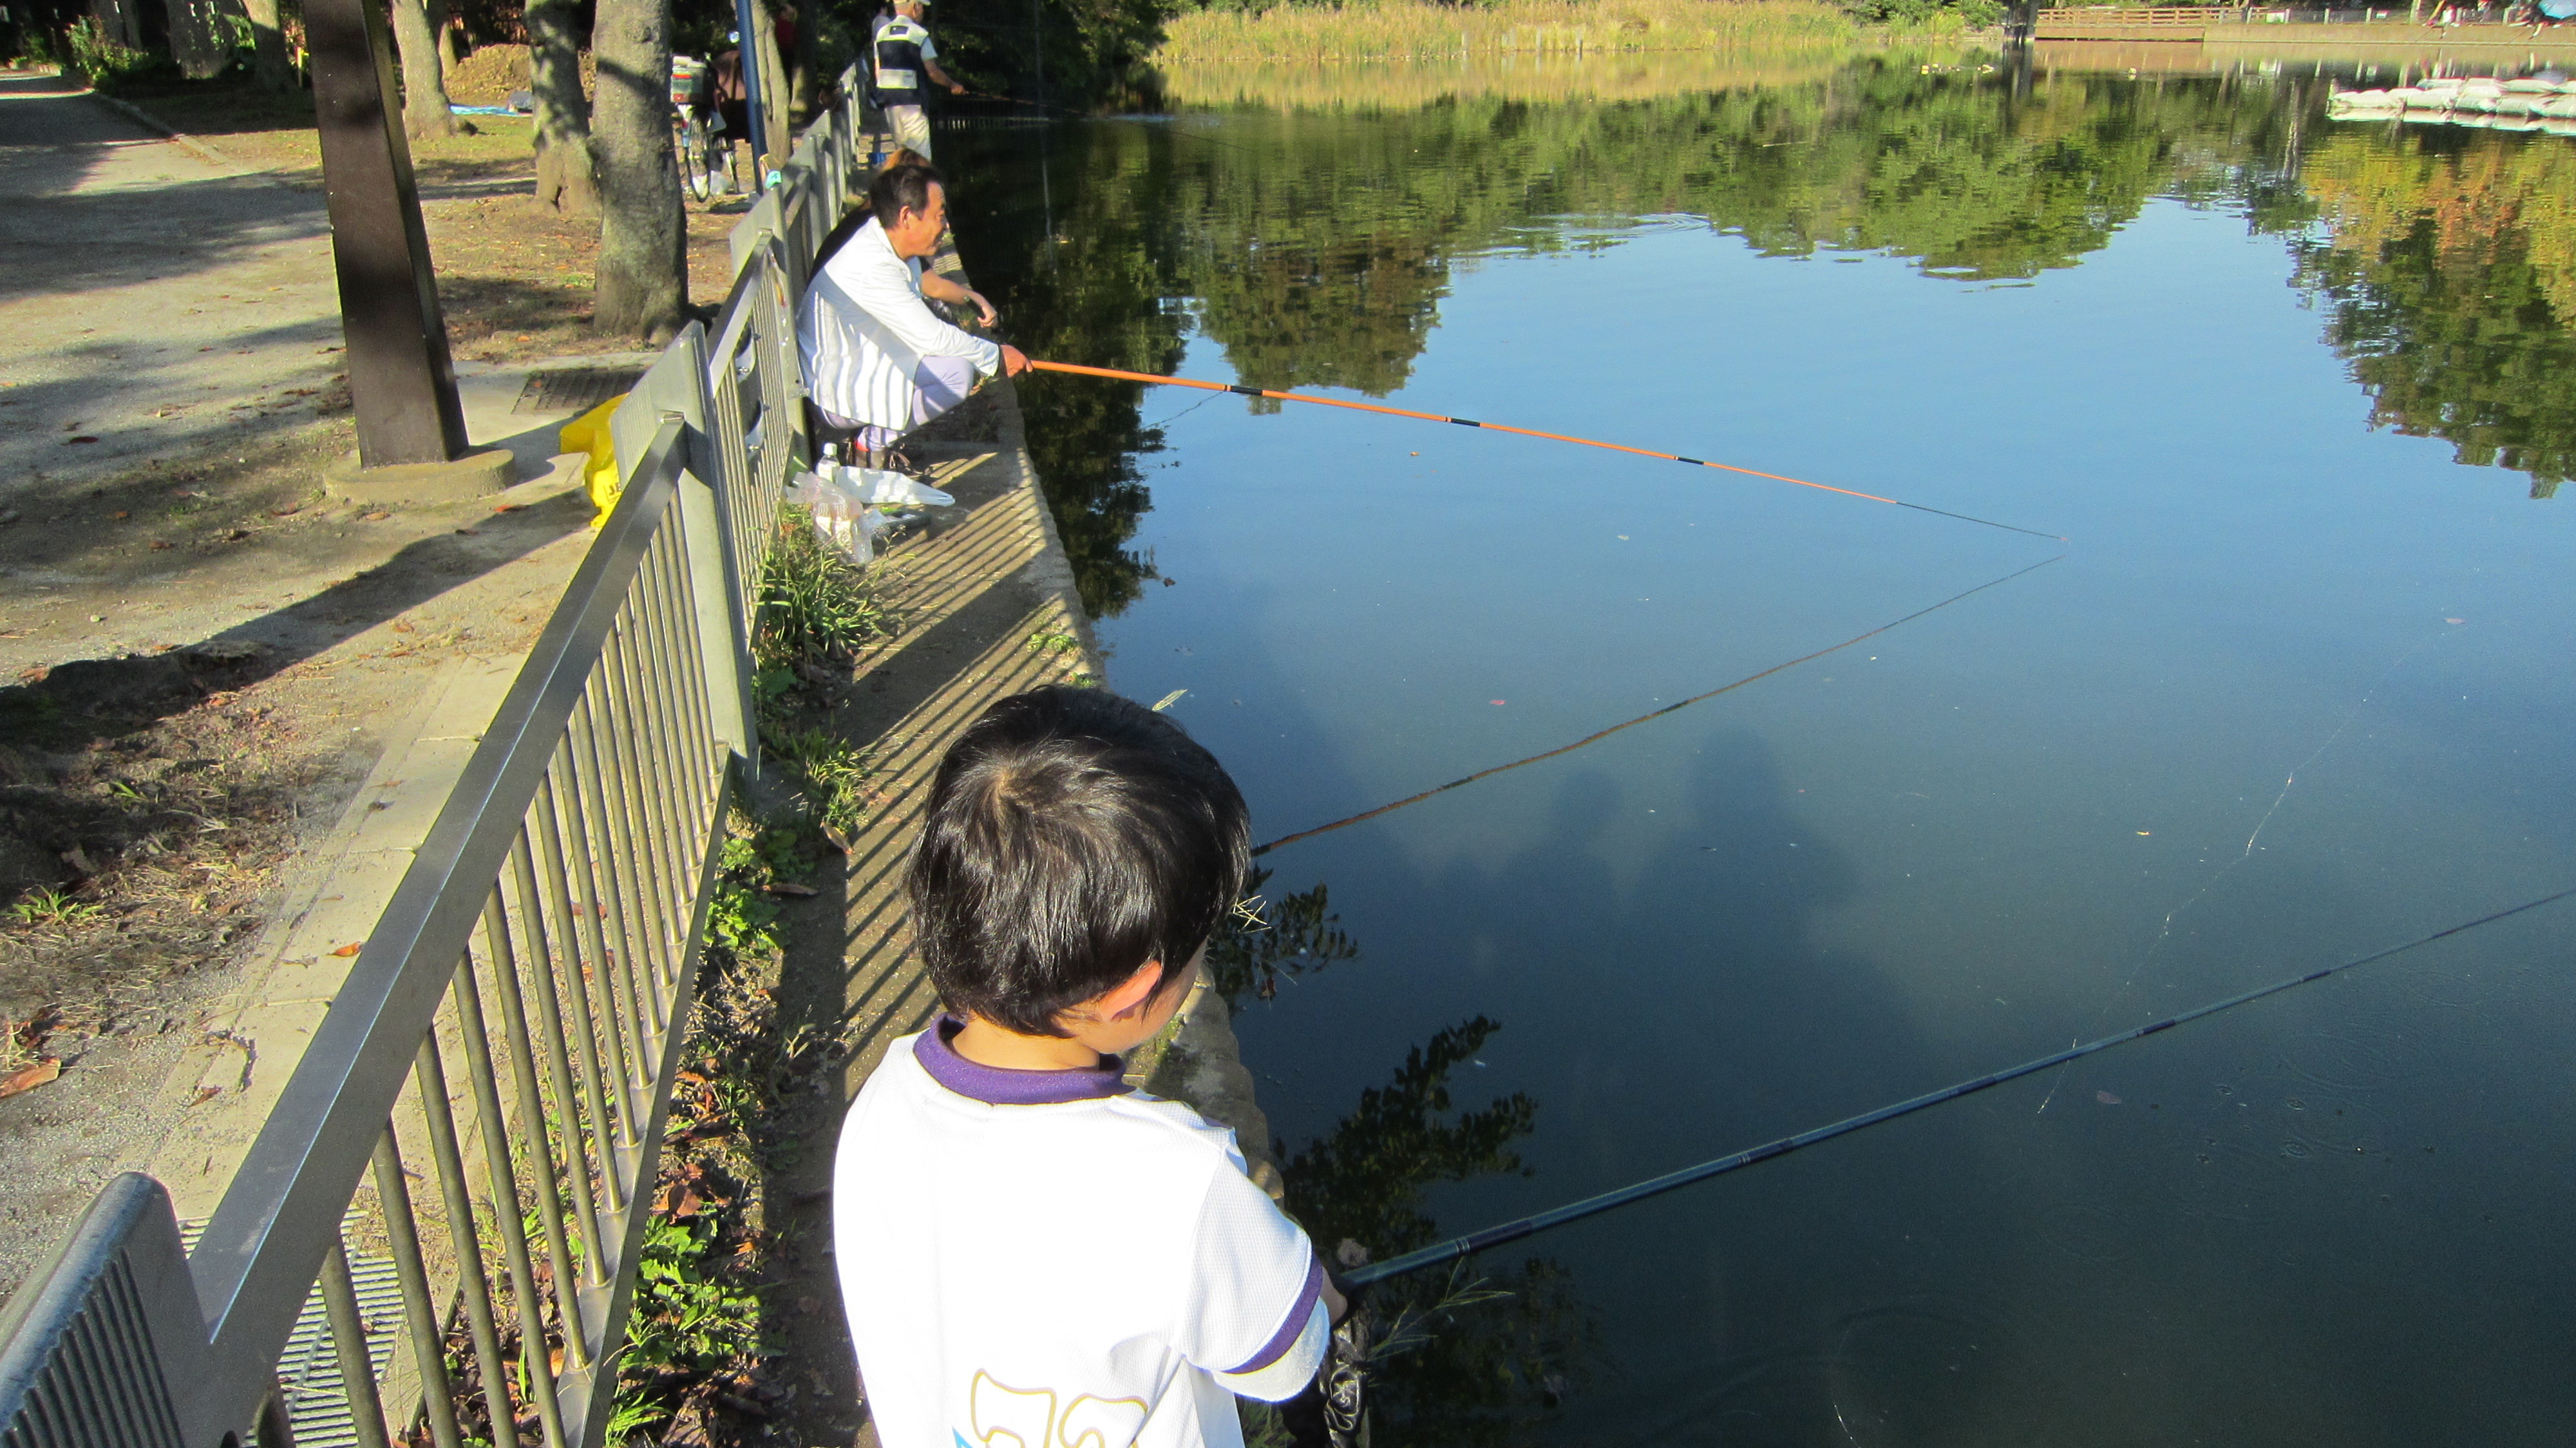
[[1236, 1448], [1234, 1394], [1324, 1360], [1324, 1273], [1234, 1134], [1115, 1064], [896, 1041], [832, 1167], [850, 1342], [886, 1448]]

